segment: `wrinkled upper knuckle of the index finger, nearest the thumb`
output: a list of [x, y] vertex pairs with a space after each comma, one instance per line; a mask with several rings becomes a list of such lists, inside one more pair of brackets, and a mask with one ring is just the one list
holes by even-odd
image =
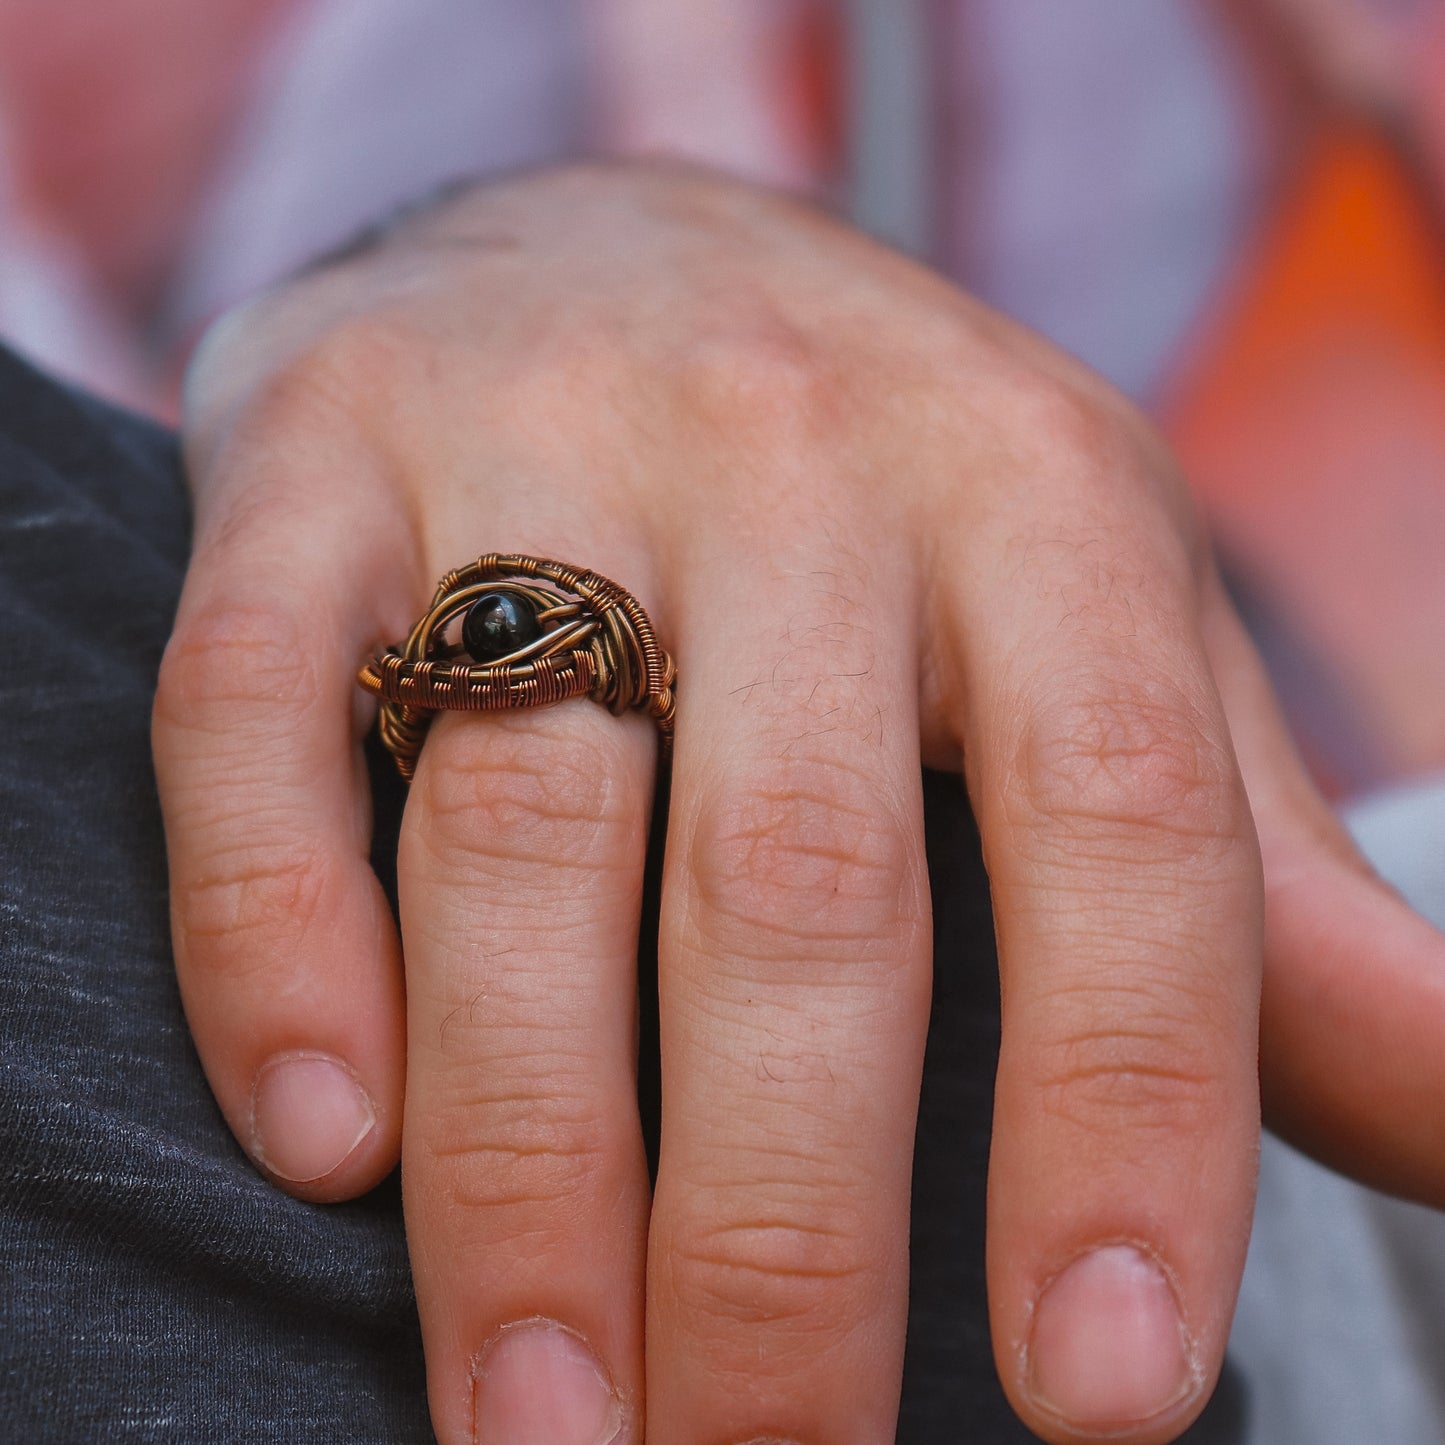
[[1085, 861], [1209, 861], [1247, 835], [1233, 759], [1176, 688], [1051, 685], [1004, 786], [1019, 821]]

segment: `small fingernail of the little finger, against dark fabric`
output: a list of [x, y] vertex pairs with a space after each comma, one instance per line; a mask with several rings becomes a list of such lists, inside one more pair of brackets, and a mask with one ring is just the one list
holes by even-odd
[[280, 1179], [325, 1178], [374, 1127], [366, 1090], [324, 1053], [272, 1059], [256, 1075], [251, 1153]]

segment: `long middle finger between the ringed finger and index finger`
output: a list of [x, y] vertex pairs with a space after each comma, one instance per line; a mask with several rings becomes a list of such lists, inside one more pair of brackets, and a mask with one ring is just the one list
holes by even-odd
[[679, 559], [657, 1445], [896, 1425], [931, 945], [913, 600], [845, 512], [730, 520]]

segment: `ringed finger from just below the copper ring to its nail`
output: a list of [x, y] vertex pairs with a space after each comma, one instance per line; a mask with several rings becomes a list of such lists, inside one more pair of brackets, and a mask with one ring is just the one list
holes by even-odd
[[403, 1186], [444, 1445], [640, 1439], [650, 734], [582, 702], [444, 715], [418, 764]]

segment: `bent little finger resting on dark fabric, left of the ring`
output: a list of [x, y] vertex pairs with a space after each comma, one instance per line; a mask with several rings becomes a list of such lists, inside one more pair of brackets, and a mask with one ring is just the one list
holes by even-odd
[[153, 717], [197, 1049], [243, 1147], [315, 1199], [374, 1185], [400, 1140], [400, 955], [354, 683], [406, 608], [376, 470], [347, 429], [295, 419], [211, 458]]

